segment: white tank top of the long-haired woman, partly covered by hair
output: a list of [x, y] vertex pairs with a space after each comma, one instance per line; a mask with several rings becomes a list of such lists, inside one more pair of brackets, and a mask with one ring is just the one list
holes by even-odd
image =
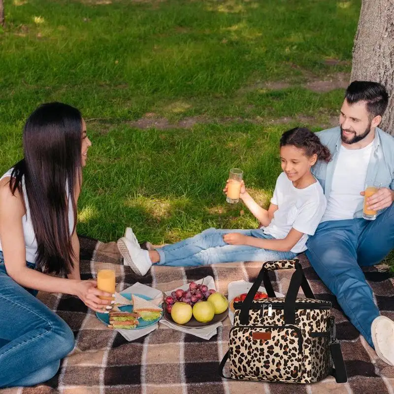
[[[12, 169], [9, 169], [1, 178], [6, 178], [6, 177], [11, 177], [11, 172]], [[26, 247], [26, 261], [30, 263], [35, 263], [36, 259], [36, 252], [37, 252], [37, 241], [35, 239], [35, 234], [34, 234], [34, 229], [33, 229], [33, 223], [32, 223], [32, 218], [30, 216], [30, 207], [29, 207], [29, 201], [27, 198], [27, 193], [26, 193], [26, 185], [25, 185], [25, 177], [22, 178], [22, 191], [23, 191], [23, 198], [25, 200], [25, 206], [26, 206], [26, 214], [22, 218], [22, 224], [23, 224], [23, 234], [25, 236], [25, 247]], [[74, 213], [72, 210], [72, 205], [71, 203], [68, 204], [69, 209], [68, 209], [68, 224], [69, 224], [69, 231], [71, 234], [71, 231], [74, 227]], [[1, 247], [1, 239], [0, 239], [0, 251], [2, 251]]]

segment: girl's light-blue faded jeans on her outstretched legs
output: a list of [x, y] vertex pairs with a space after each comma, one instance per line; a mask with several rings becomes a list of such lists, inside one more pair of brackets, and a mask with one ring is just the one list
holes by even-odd
[[261, 229], [217, 230], [207, 229], [194, 237], [157, 249], [160, 265], [196, 266], [229, 262], [266, 262], [271, 260], [293, 259], [296, 253], [278, 252], [246, 245], [229, 245], [223, 235], [238, 232], [257, 238], [272, 239]]

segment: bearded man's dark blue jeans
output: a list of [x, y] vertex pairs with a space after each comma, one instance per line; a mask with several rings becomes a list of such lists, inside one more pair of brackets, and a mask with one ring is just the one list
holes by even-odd
[[379, 309], [361, 267], [379, 263], [394, 248], [394, 204], [374, 221], [323, 222], [306, 246], [306, 256], [317, 274], [337, 297], [352, 324], [374, 347], [371, 324], [379, 316]]

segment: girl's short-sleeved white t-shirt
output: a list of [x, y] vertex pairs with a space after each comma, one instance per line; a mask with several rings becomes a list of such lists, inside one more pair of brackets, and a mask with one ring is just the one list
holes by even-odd
[[276, 180], [271, 203], [278, 205], [278, 209], [271, 223], [263, 228], [264, 233], [283, 239], [294, 228], [304, 234], [291, 251], [301, 253], [306, 250], [308, 235], [315, 233], [327, 205], [320, 183], [316, 180], [305, 189], [297, 189], [282, 172]]

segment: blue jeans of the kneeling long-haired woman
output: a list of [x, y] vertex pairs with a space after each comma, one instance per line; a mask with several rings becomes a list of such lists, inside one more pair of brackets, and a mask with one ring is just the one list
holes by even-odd
[[0, 252], [0, 389], [49, 380], [74, 347], [66, 322], [33, 294], [7, 275]]

